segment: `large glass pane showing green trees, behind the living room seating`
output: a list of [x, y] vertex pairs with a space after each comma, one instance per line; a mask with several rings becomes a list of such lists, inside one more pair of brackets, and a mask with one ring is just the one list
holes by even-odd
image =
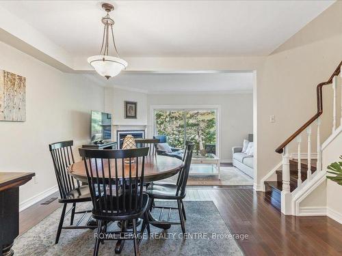
[[217, 142], [215, 109], [157, 109], [155, 134], [166, 135], [172, 147], [183, 148], [185, 141], [195, 143], [196, 154]]

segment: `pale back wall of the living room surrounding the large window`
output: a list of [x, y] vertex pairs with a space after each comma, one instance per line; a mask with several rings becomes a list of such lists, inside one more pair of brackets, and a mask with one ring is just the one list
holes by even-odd
[[152, 105], [218, 105], [220, 106], [220, 158], [231, 161], [232, 147], [241, 146], [253, 132], [252, 94], [148, 94], [148, 128], [153, 135]]

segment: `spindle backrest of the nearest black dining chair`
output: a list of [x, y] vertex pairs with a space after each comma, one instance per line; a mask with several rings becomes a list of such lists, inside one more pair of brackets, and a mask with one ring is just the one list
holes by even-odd
[[133, 150], [79, 149], [86, 167], [94, 218], [116, 218], [140, 212], [148, 151], [148, 147]]

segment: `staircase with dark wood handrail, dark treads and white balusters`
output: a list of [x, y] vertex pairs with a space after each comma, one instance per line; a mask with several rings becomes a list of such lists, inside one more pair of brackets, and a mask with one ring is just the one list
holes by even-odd
[[[308, 119], [298, 130], [293, 132], [279, 147], [276, 153], [282, 154], [281, 170], [276, 171], [276, 180], [265, 181], [265, 201], [274, 205], [285, 215], [295, 215], [298, 212], [299, 203], [306, 193], [310, 193], [318, 182], [326, 179], [325, 171], [322, 169], [322, 145], [321, 143], [321, 115], [323, 114], [322, 87], [332, 87], [332, 123], [324, 124], [325, 127], [332, 125], [330, 138], [338, 132], [342, 132], [342, 108], [337, 110], [337, 87], [342, 86], [342, 61], [332, 73], [328, 81], [317, 85], [317, 113]], [[339, 75], [341, 81], [339, 81]], [[341, 93], [340, 93], [341, 94]], [[342, 106], [342, 96], [340, 96]], [[337, 118], [341, 117], [341, 126], [337, 128]], [[314, 133], [314, 134], [313, 134]], [[311, 143], [312, 136], [316, 137], [317, 147]], [[303, 139], [303, 141], [302, 141]], [[326, 141], [328, 142], [328, 140]], [[293, 145], [295, 143], [295, 145]], [[304, 144], [304, 145], [302, 145]], [[290, 150], [294, 152], [291, 152]], [[304, 148], [304, 154], [302, 153]]]

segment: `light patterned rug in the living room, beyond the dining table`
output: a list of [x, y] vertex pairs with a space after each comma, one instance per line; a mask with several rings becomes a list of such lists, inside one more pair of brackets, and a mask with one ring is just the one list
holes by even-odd
[[[192, 165], [190, 170], [188, 186], [252, 186], [253, 179], [235, 167], [221, 167], [220, 180], [215, 173], [211, 174], [211, 166]], [[196, 173], [196, 174], [193, 174]], [[197, 174], [200, 173], [200, 174]], [[162, 182], [175, 183], [177, 175], [162, 180]]]

